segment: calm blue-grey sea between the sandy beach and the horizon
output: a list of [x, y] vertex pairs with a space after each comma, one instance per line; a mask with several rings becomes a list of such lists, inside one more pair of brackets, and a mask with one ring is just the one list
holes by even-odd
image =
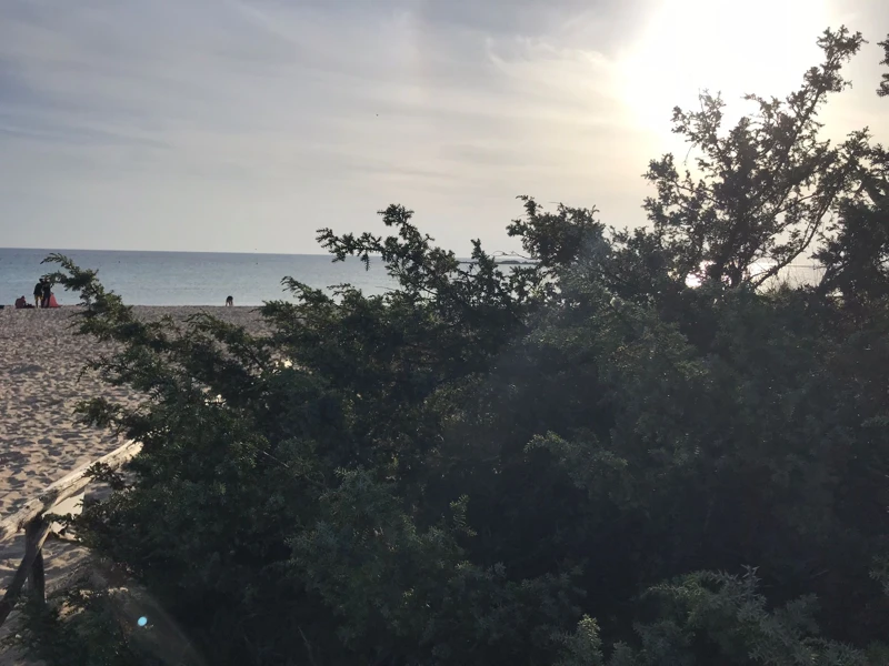
[[[34, 283], [56, 264], [40, 262], [61, 252], [82, 268], [99, 271], [99, 280], [129, 305], [222, 305], [229, 294], [236, 305], [261, 305], [287, 299], [281, 279], [291, 276], [316, 289], [350, 283], [366, 294], [393, 285], [382, 264], [370, 271], [358, 260], [332, 263], [316, 254], [230, 254], [209, 252], [117, 252], [98, 250], [16, 250], [0, 248], [0, 303], [11, 305], [23, 295], [32, 301]], [[74, 294], [56, 290], [61, 305], [78, 302]]]

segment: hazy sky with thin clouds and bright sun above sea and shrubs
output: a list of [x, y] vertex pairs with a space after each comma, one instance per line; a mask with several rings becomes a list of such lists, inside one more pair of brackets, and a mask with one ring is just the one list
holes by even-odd
[[466, 254], [517, 195], [645, 223], [672, 107], [871, 43], [827, 132], [889, 143], [885, 0], [0, 0], [0, 246], [318, 253], [390, 203]]

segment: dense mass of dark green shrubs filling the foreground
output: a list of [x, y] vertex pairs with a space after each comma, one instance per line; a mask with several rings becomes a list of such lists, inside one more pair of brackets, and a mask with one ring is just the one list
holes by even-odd
[[[532, 265], [461, 264], [392, 205], [391, 235], [319, 240], [398, 290], [286, 280], [251, 335], [140, 321], [50, 258], [120, 345], [93, 366], [144, 395], [81, 408], [144, 450], [79, 534], [207, 664], [885, 664], [889, 153], [820, 137], [862, 39], [820, 43], [733, 128], [676, 111], [698, 160], [651, 162], [647, 229], [523, 198]], [[100, 598], [42, 617], [94, 647], [53, 663], [157, 643], [72, 634]]]

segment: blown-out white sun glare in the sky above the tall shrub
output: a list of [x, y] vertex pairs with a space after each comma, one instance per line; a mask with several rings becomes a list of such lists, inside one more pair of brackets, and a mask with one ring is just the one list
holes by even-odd
[[697, 107], [705, 89], [736, 108], [747, 92], [795, 90], [831, 27], [827, 0], [659, 0], [650, 16], [619, 84], [635, 121], [657, 132], [669, 130], [673, 107]]

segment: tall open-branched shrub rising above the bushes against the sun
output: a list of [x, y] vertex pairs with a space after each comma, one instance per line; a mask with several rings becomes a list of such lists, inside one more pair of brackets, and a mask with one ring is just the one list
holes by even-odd
[[[673, 131], [697, 149], [699, 176], [680, 174], [672, 155], [652, 161], [646, 201], [683, 279], [706, 266], [731, 286], [760, 285], [803, 254], [848, 186], [865, 134], [832, 147], [819, 137], [818, 112], [849, 82], [842, 65], [860, 49], [860, 33], [826, 31], [820, 67], [786, 100], [747, 95], [756, 112], [722, 133], [725, 102], [701, 95], [700, 111], [673, 112]], [[762, 270], [755, 271], [757, 264]]]

